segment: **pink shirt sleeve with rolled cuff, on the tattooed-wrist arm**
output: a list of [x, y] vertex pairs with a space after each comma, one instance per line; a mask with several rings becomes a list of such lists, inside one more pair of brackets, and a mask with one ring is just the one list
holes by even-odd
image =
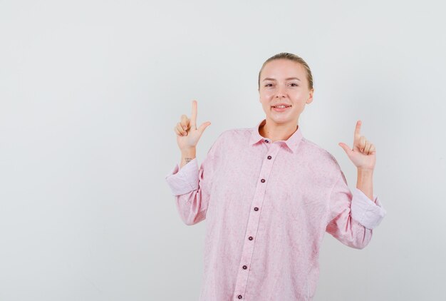
[[194, 158], [181, 169], [178, 164], [175, 165], [165, 177], [172, 195], [175, 196], [180, 218], [186, 225], [195, 225], [206, 218], [216, 164], [216, 148], [217, 143], [214, 143], [199, 168], [197, 158]]

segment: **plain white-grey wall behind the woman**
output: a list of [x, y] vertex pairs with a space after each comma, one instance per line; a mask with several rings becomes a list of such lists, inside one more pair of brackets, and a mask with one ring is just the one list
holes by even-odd
[[335, 156], [356, 121], [388, 211], [363, 250], [326, 233], [316, 301], [440, 300], [446, 23], [441, 1], [0, 1], [0, 300], [198, 300], [206, 221], [165, 182], [192, 100], [201, 165], [264, 118], [261, 64], [304, 58], [304, 137]]

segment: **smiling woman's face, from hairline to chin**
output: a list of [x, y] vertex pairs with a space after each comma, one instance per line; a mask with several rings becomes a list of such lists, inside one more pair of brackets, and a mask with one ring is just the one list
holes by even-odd
[[[306, 103], [313, 101], [313, 89], [308, 90], [300, 63], [281, 58], [266, 63], [261, 71], [259, 96], [269, 124], [295, 126]], [[289, 107], [275, 108], [281, 103]]]

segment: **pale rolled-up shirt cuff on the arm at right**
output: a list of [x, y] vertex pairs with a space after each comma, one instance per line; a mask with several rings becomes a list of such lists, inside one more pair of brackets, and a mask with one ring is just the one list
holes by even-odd
[[353, 189], [351, 217], [368, 229], [377, 227], [387, 214], [378, 196], [373, 195], [373, 199], [373, 201], [370, 200], [360, 189]]

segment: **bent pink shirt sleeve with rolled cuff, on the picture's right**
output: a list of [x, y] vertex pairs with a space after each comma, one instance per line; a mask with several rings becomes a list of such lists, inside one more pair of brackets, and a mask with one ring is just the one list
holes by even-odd
[[342, 170], [328, 201], [329, 219], [326, 232], [351, 248], [363, 249], [372, 238], [373, 228], [383, 220], [386, 211], [373, 195], [370, 200], [361, 190], [348, 188]]

